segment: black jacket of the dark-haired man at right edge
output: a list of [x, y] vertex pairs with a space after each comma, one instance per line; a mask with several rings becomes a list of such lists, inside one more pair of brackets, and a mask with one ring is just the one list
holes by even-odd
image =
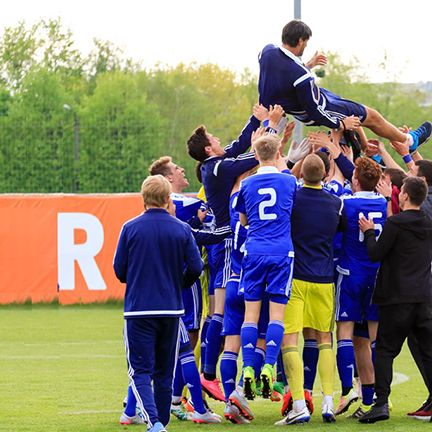
[[381, 261], [373, 302], [378, 305], [432, 302], [432, 221], [421, 210], [387, 219], [378, 241], [365, 232], [368, 255]]

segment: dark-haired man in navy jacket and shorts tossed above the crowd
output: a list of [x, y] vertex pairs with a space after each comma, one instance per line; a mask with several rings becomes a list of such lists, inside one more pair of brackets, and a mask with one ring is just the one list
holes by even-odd
[[320, 88], [310, 71], [325, 60], [319, 56], [306, 65], [301, 56], [312, 36], [302, 21], [290, 21], [282, 30], [282, 46], [266, 45], [259, 55], [258, 91], [264, 106], [279, 104], [287, 114], [307, 126], [355, 130], [360, 125], [390, 141], [408, 142], [410, 152], [432, 133], [432, 124], [404, 133], [389, 123], [378, 111]]

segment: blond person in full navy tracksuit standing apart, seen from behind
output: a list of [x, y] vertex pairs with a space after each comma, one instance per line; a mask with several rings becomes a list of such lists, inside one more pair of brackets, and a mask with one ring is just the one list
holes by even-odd
[[[159, 188], [162, 200], [154, 201], [150, 186]], [[181, 289], [191, 285], [203, 267], [191, 228], [165, 209], [169, 193], [162, 176], [146, 179], [146, 212], [123, 226], [114, 257], [115, 273], [126, 283], [128, 374], [152, 432], [163, 431], [169, 421], [179, 318], [184, 313]]]

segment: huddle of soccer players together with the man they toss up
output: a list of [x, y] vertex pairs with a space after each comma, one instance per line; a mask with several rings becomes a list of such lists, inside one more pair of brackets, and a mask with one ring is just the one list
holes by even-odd
[[[197, 197], [182, 193], [188, 181], [170, 157], [149, 169], [171, 183], [171, 211], [192, 226], [209, 270], [206, 290], [200, 282], [183, 290], [186, 313], [171, 406], [180, 420], [221, 422], [204, 390], [225, 403], [224, 417], [233, 423], [253, 420], [248, 400], [257, 395], [283, 399], [277, 425], [306, 423], [314, 410], [317, 370], [324, 422], [349, 410], [361, 421], [373, 404], [379, 317], [371, 299], [379, 263], [368, 257], [359, 219], [373, 220], [379, 236], [386, 217], [398, 211], [388, 179], [401, 169], [361, 125], [388, 138], [411, 175], [432, 125], [398, 129], [371, 108], [320, 89], [310, 68], [324, 60], [300, 60], [311, 34], [292, 21], [283, 29], [281, 47], [264, 48], [260, 103], [236, 141], [222, 148], [204, 126], [188, 139], [203, 185]], [[291, 143], [284, 156], [293, 130], [293, 123], [283, 125], [288, 113], [332, 130]], [[199, 335], [203, 299], [207, 316]], [[201, 375], [194, 357], [198, 340]], [[335, 407], [336, 366], [342, 393]], [[185, 386], [191, 401], [183, 397]], [[125, 413], [122, 423], [130, 424], [131, 391]]]

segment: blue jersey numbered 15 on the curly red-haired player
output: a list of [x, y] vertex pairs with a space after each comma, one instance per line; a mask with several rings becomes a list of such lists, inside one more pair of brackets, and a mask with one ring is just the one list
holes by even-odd
[[362, 215], [366, 219], [373, 219], [375, 234], [379, 236], [387, 218], [387, 201], [382, 195], [375, 192], [356, 192], [352, 196], [343, 196], [342, 199], [345, 229], [338, 270], [376, 270], [379, 263], [374, 263], [369, 259], [358, 222]]

